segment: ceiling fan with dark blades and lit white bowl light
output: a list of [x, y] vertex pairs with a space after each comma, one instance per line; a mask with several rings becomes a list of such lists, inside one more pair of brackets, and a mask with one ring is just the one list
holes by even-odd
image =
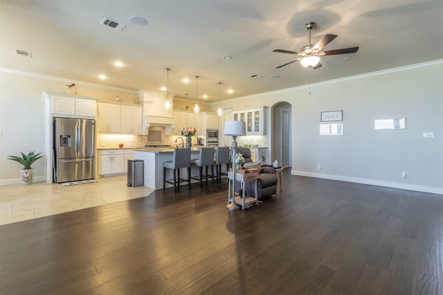
[[303, 46], [300, 49], [300, 52], [296, 51], [288, 51], [284, 49], [274, 49], [274, 52], [280, 52], [280, 53], [289, 53], [289, 54], [295, 54], [300, 55], [300, 57], [296, 58], [295, 60], [291, 60], [290, 62], [287, 62], [286, 64], [282, 64], [281, 66], [275, 67], [275, 69], [280, 69], [282, 66], [287, 66], [288, 64], [292, 64], [293, 62], [300, 61], [300, 64], [302, 66], [305, 66], [309, 69], [318, 69], [320, 64], [320, 56], [323, 55], [336, 55], [336, 54], [345, 54], [345, 53], [356, 53], [359, 50], [359, 46], [356, 47], [350, 47], [350, 48], [341, 48], [341, 49], [335, 49], [335, 50], [329, 50], [329, 51], [322, 51], [322, 49], [332, 42], [337, 35], [332, 34], [326, 34], [323, 36], [323, 38], [320, 39], [320, 41], [317, 42], [317, 44], [312, 45], [311, 44], [311, 30], [316, 26], [316, 23], [314, 21], [310, 21], [309, 23], [305, 24], [305, 28], [309, 30], [309, 45]]

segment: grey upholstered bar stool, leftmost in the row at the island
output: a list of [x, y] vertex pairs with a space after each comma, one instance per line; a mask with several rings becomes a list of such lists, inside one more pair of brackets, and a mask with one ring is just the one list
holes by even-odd
[[[188, 179], [180, 178], [180, 168], [188, 168]], [[172, 169], [174, 178], [173, 181], [166, 180], [166, 169]], [[180, 183], [185, 181], [189, 184], [191, 189], [191, 149], [186, 147], [174, 148], [174, 156], [172, 161], [163, 163], [163, 190], [166, 188], [166, 183], [173, 184], [174, 190], [180, 189]]]

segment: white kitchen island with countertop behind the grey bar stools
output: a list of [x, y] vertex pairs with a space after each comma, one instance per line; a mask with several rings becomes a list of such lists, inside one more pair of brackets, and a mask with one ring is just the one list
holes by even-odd
[[[199, 159], [200, 148], [192, 147], [191, 159]], [[143, 185], [154, 190], [163, 189], [163, 163], [172, 161], [174, 155], [174, 148], [172, 147], [146, 147], [141, 149], [134, 149], [134, 159], [143, 160]], [[181, 171], [181, 173], [184, 173]], [[192, 166], [192, 176], [199, 175], [199, 169]], [[166, 171], [166, 179], [172, 179], [172, 170]], [[182, 175], [183, 178], [188, 178], [188, 175]], [[187, 184], [187, 183], [186, 183]], [[166, 187], [172, 187], [171, 184], [166, 184]]]

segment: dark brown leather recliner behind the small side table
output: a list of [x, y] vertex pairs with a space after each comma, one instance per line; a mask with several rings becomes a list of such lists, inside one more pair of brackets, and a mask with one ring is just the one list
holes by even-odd
[[[243, 167], [257, 168], [260, 172], [257, 177], [258, 198], [263, 199], [277, 193], [278, 177], [273, 168], [262, 167], [261, 161], [253, 162], [251, 159], [251, 150], [248, 147], [237, 147], [237, 152], [243, 155]], [[253, 182], [246, 183], [246, 195], [255, 197], [255, 186]]]

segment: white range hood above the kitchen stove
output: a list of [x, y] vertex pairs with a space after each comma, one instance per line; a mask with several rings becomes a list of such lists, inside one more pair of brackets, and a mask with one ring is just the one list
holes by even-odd
[[[170, 95], [171, 105], [174, 96]], [[174, 113], [165, 110], [166, 94], [156, 91], [138, 91], [138, 102], [143, 105], [143, 133], [147, 134], [150, 127], [165, 127], [165, 134], [174, 131]]]

